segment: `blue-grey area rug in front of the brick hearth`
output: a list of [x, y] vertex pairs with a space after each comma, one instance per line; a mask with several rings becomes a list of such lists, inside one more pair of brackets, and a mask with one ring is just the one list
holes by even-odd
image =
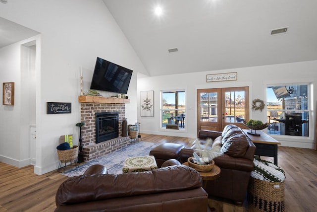
[[78, 168], [66, 170], [61, 174], [68, 177], [82, 175], [87, 170], [87, 168], [93, 164], [102, 164], [106, 166], [109, 174], [122, 174], [124, 160], [127, 157], [147, 156], [149, 155], [151, 149], [158, 146], [159, 144], [160, 143], [146, 141], [132, 143], [114, 152], [110, 152], [109, 154], [82, 164]]

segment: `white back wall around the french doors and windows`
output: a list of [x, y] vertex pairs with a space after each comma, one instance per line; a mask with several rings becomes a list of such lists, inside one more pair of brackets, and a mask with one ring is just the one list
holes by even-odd
[[[199, 67], [197, 67], [199, 69]], [[238, 72], [238, 80], [227, 82], [206, 82], [206, 74]], [[169, 135], [195, 138], [197, 135], [197, 89], [222, 87], [250, 87], [250, 119], [266, 122], [266, 107], [260, 111], [252, 111], [252, 100], [266, 99], [266, 86], [277, 83], [308, 82], [313, 84], [313, 94], [310, 97], [314, 104], [313, 117], [310, 117], [310, 136], [283, 137], [272, 136], [285, 146], [314, 148], [316, 102], [317, 102], [317, 61], [280, 64], [272, 66], [250, 67], [220, 71], [205, 71], [199, 73], [144, 77], [138, 79], [138, 122], [141, 123], [141, 133]], [[186, 130], [160, 130], [160, 91], [185, 89], [186, 90]], [[140, 116], [140, 91], [154, 90], [154, 117]]]

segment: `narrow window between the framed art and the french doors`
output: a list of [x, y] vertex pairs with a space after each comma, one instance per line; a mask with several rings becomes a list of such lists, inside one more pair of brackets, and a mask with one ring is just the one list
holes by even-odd
[[161, 92], [161, 114], [162, 128], [185, 129], [185, 91]]

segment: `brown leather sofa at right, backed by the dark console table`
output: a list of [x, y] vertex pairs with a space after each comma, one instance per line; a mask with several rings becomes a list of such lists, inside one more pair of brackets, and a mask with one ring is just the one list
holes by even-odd
[[[214, 158], [214, 163], [220, 167], [220, 177], [216, 180], [208, 181], [206, 192], [212, 199], [224, 198], [233, 201], [237, 206], [242, 206], [246, 198], [250, 173], [253, 171], [253, 158], [256, 146], [245, 135], [245, 133], [235, 125], [227, 125], [222, 132], [200, 130], [200, 143], [206, 144], [206, 139], [213, 139], [211, 149], [216, 145], [220, 146], [221, 155]], [[165, 158], [161, 154], [169, 152], [166, 145], [162, 145], [150, 152], [155, 157]], [[181, 147], [178, 149], [179, 155], [174, 156], [181, 163], [193, 156], [194, 149]], [[168, 153], [171, 155], [171, 153]], [[160, 159], [160, 162], [161, 159]]]

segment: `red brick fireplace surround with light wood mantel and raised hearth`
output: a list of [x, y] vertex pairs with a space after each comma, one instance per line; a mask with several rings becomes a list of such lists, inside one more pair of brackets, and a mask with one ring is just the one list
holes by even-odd
[[[128, 99], [79, 96], [84, 161], [90, 161], [130, 144], [130, 137], [121, 137], [122, 121], [125, 118], [125, 103]], [[128, 100], [128, 101], [127, 101]], [[96, 143], [96, 113], [118, 112], [119, 137]]]

